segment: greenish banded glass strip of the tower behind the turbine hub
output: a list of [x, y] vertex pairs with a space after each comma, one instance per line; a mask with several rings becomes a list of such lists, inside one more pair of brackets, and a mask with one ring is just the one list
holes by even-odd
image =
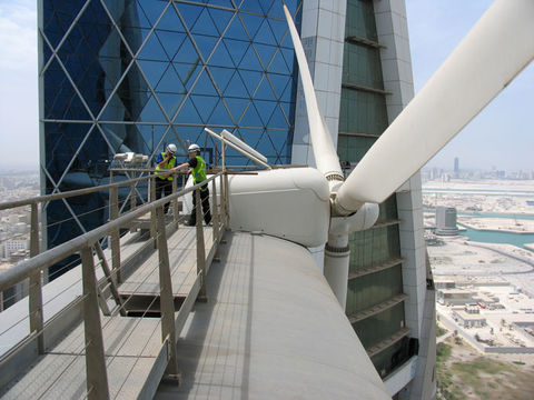
[[[337, 144], [343, 164], [358, 162], [388, 126], [377, 40], [373, 2], [348, 0]], [[384, 377], [404, 360], [399, 354], [408, 353], [403, 344], [408, 341], [402, 337], [380, 347], [405, 330], [404, 302], [390, 301], [403, 293], [395, 194], [380, 204], [375, 227], [350, 234], [349, 246], [346, 313], [362, 316], [364, 311], [377, 309], [368, 317], [356, 318], [353, 328]]]

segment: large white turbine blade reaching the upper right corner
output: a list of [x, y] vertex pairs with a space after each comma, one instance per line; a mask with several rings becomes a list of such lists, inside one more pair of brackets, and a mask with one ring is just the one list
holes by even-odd
[[338, 212], [384, 201], [533, 58], [534, 1], [495, 1], [339, 188]]

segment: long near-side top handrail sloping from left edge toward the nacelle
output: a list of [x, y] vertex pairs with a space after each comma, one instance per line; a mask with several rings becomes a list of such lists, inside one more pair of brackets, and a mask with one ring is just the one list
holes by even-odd
[[[192, 192], [196, 189], [199, 189], [206, 183], [209, 183], [210, 181], [215, 180], [216, 178], [222, 176], [225, 171], [220, 171], [209, 178], [207, 178], [205, 181], [197, 183], [190, 188], [184, 189], [179, 192], [172, 193], [168, 197], [165, 197], [162, 199], [152, 201], [148, 204], [141, 206], [137, 208], [134, 211], [127, 212], [126, 214], [105, 223], [101, 227], [98, 227], [89, 232], [82, 233], [62, 244], [59, 244], [50, 250], [47, 250], [29, 260], [20, 261], [14, 268], [10, 268], [7, 271], [0, 273], [0, 291], [3, 291], [13, 284], [22, 281], [23, 279], [27, 279], [31, 277], [32, 274], [36, 274], [42, 270], [44, 270], [48, 267], [53, 266], [56, 262], [65, 259], [67, 256], [70, 256], [77, 251], [81, 251], [82, 249], [90, 247], [95, 244], [100, 238], [110, 234], [113, 230], [117, 230], [121, 227], [125, 227], [127, 223], [134, 221], [136, 218], [139, 218], [140, 216], [156, 210], [158, 207], [164, 206], [166, 202], [172, 201], [175, 199], [178, 199], [179, 197], [182, 197], [187, 193]], [[146, 177], [144, 177], [146, 178]], [[152, 177], [150, 177], [152, 178]], [[140, 179], [140, 178], [137, 178]], [[125, 184], [125, 182], [120, 182], [121, 184]], [[116, 187], [117, 184], [108, 184], [108, 186], [102, 186], [102, 187], [97, 187], [97, 188], [111, 188]], [[85, 189], [82, 189], [85, 190]], [[30, 204], [31, 202], [28, 202]]]

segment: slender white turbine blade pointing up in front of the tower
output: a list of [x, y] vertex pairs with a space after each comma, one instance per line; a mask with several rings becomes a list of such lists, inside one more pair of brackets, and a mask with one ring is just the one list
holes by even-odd
[[323, 118], [317, 103], [314, 82], [309, 74], [308, 62], [304, 54], [303, 43], [300, 42], [297, 28], [295, 28], [295, 23], [293, 22], [291, 14], [285, 4], [284, 12], [286, 13], [287, 24], [289, 26], [289, 32], [297, 56], [300, 80], [303, 81], [304, 98], [306, 100], [306, 110], [308, 112], [309, 136], [312, 138], [312, 147], [314, 149], [317, 169], [327, 178], [336, 177], [337, 179], [335, 178], [335, 180], [343, 180], [339, 159], [336, 149], [334, 149], [328, 128], [326, 127], [325, 119]]

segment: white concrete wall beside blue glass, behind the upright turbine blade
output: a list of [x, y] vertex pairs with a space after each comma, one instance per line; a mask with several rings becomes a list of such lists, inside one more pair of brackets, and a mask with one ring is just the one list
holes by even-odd
[[[300, 38], [308, 59], [319, 109], [337, 148], [339, 104], [342, 99], [343, 47], [346, 2], [304, 0]], [[308, 117], [300, 80], [295, 111], [291, 163], [315, 167], [309, 140]]]

